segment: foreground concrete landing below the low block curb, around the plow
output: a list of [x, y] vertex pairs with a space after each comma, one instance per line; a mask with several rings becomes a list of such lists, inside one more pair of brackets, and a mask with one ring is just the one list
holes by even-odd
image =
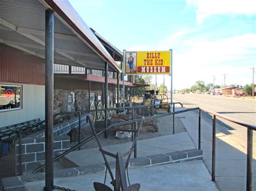
[[[155, 190], [217, 190], [203, 161], [182, 162], [152, 167], [133, 168], [129, 171], [131, 183], [140, 183], [140, 191]], [[103, 182], [104, 173], [55, 179], [55, 185], [76, 191], [94, 190], [93, 182]], [[110, 185], [107, 175], [106, 185]], [[44, 181], [25, 184], [26, 190], [42, 190]]]

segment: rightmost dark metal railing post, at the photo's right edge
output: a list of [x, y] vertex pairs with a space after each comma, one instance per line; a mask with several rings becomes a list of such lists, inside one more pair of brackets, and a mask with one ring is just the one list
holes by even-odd
[[247, 128], [247, 164], [246, 164], [246, 190], [252, 191], [252, 151], [253, 151], [253, 130]]

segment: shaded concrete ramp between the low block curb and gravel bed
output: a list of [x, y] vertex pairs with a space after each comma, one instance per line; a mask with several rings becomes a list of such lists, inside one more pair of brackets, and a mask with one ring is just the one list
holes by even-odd
[[[118, 145], [110, 145], [103, 147], [104, 150], [117, 153], [126, 152], [131, 149], [132, 142], [123, 143]], [[184, 151], [193, 149], [194, 144], [188, 136], [187, 132], [177, 133], [175, 135], [154, 137], [151, 139], [138, 140], [137, 142], [137, 157], [145, 157], [149, 155], [164, 154], [175, 151]], [[106, 156], [108, 161], [115, 161], [114, 158]], [[133, 154], [131, 156], [133, 158]], [[61, 163], [66, 167], [77, 167], [93, 164], [104, 163], [102, 154], [99, 148], [90, 148], [82, 151], [75, 151], [67, 154]]]

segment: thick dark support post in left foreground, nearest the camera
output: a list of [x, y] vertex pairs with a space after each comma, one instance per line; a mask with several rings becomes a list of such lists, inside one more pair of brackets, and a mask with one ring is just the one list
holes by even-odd
[[53, 36], [54, 15], [45, 10], [45, 188], [53, 189]]

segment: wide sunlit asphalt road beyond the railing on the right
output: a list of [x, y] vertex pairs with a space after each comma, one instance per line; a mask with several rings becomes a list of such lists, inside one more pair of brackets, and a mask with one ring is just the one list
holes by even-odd
[[[256, 124], [256, 99], [207, 94], [173, 94], [173, 102], [181, 102], [185, 108], [203, 107], [243, 122]], [[247, 137], [247, 130], [241, 125], [227, 122], [224, 119], [220, 121], [227, 124], [227, 129], [232, 130], [233, 133]], [[253, 140], [256, 141], [255, 131]]]

